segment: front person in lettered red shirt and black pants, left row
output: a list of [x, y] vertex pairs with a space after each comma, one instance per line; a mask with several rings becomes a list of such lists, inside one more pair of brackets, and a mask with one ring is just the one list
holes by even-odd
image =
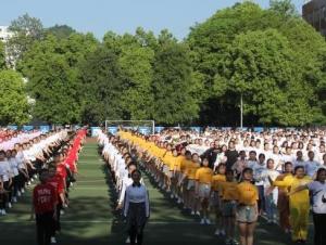
[[50, 245], [57, 218], [58, 195], [54, 186], [48, 183], [48, 172], [42, 172], [39, 179], [40, 183], [33, 191], [32, 218], [35, 215], [37, 244]]

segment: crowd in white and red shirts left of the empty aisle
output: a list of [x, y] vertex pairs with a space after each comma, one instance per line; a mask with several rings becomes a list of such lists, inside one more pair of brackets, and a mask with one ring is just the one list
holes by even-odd
[[41, 183], [33, 192], [30, 218], [36, 218], [38, 244], [55, 243], [55, 234], [61, 229], [60, 215], [68, 205], [68, 188], [75, 181], [78, 152], [86, 130], [60, 129], [48, 133], [5, 130], [1, 136], [1, 215], [7, 215], [13, 204], [20, 202], [26, 188], [39, 177]]

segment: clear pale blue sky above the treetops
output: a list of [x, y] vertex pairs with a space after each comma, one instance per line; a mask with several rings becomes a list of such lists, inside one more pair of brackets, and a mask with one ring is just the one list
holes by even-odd
[[[134, 34], [167, 28], [178, 39], [185, 38], [196, 23], [204, 22], [217, 10], [241, 0], [0, 0], [0, 26], [10, 25], [28, 13], [41, 20], [45, 27], [68, 25], [82, 33], [93, 33], [99, 39], [108, 30]], [[292, 0], [299, 13], [304, 0]], [[263, 8], [269, 0], [256, 0]]]

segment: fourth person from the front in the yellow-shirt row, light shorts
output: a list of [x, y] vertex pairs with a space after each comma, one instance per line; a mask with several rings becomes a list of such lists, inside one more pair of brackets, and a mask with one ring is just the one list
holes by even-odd
[[195, 195], [199, 197], [202, 210], [200, 224], [211, 224], [209, 218], [210, 196], [212, 189], [213, 170], [209, 167], [209, 159], [203, 158], [201, 167], [196, 171]]

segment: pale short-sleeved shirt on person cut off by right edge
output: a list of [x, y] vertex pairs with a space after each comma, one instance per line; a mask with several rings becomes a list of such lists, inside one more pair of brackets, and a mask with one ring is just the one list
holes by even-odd
[[326, 214], [326, 183], [313, 181], [308, 184], [308, 189], [312, 193], [313, 212]]

